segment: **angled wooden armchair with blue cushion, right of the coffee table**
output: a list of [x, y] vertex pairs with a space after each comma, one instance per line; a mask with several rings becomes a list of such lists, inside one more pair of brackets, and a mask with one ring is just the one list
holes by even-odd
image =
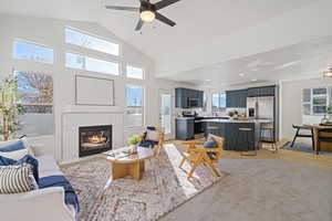
[[[193, 173], [195, 169], [199, 165], [207, 165], [209, 166], [214, 173], [217, 177], [220, 177], [220, 173], [214, 166], [214, 162], [217, 162], [221, 159], [221, 151], [224, 147], [225, 139], [224, 137], [218, 137], [216, 135], [209, 134], [207, 138], [212, 138], [217, 143], [216, 148], [204, 148], [204, 147], [197, 147], [198, 145], [204, 145], [205, 141], [184, 141], [183, 145], [188, 146], [187, 150], [184, 152], [184, 158], [179, 165], [179, 168], [183, 168], [183, 165], [185, 161], [189, 161], [191, 165], [191, 170], [188, 173], [188, 178], [193, 177]], [[214, 157], [210, 157], [210, 155], [214, 154]]]

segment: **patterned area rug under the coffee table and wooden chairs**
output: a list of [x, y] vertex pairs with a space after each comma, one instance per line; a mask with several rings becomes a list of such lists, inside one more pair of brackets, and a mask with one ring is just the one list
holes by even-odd
[[146, 171], [141, 181], [131, 178], [113, 180], [105, 197], [98, 197], [110, 175], [110, 162], [103, 158], [83, 161], [63, 168], [74, 187], [80, 204], [80, 220], [148, 221], [157, 220], [215, 182], [228, 177], [214, 176], [208, 167], [196, 169], [194, 179], [178, 168], [181, 155], [175, 145], [165, 145], [158, 158], [146, 160]]

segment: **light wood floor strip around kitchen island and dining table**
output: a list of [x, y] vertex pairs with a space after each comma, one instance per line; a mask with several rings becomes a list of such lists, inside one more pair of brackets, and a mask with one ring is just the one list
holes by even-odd
[[[282, 147], [288, 140], [281, 140], [278, 147]], [[180, 140], [169, 140], [168, 143], [174, 143], [180, 146]], [[286, 161], [293, 161], [299, 164], [304, 164], [309, 166], [320, 167], [320, 168], [331, 168], [332, 169], [332, 156], [322, 156], [310, 152], [302, 152], [297, 150], [279, 149], [273, 152], [270, 149], [270, 145], [264, 145], [264, 149], [257, 151], [257, 156], [241, 156], [240, 151], [222, 150], [224, 159], [282, 159]]]

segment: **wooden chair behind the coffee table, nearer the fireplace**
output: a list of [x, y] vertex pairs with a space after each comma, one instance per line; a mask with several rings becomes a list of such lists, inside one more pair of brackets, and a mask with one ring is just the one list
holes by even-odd
[[[158, 131], [159, 133], [158, 140], [149, 140], [147, 138], [147, 130]], [[155, 148], [155, 156], [159, 156], [160, 148], [163, 147], [164, 141], [165, 141], [165, 133], [164, 131], [165, 130], [163, 127], [153, 127], [153, 126], [146, 127], [146, 131], [141, 136], [142, 141], [141, 141], [139, 146]]]

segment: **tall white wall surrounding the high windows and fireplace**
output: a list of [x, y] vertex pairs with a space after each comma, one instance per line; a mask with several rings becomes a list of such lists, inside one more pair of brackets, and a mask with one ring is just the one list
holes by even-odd
[[[120, 57], [105, 55], [92, 50], [85, 50], [64, 42], [64, 28], [73, 27], [83, 31], [103, 36], [111, 41], [121, 43], [122, 55]], [[12, 59], [12, 41], [23, 39], [50, 46], [54, 50], [54, 64], [42, 64], [32, 61]], [[40, 72], [53, 76], [54, 82], [54, 114], [55, 131], [54, 135], [35, 137], [34, 143], [44, 144], [38, 151], [40, 154], [52, 154], [61, 160], [61, 113], [68, 105], [74, 105], [74, 76], [89, 75], [112, 78], [115, 81], [115, 105], [124, 109], [125, 106], [125, 84], [142, 84], [145, 87], [145, 123], [146, 125], [158, 125], [158, 91], [174, 90], [176, 86], [187, 86], [169, 81], [155, 80], [154, 61], [145, 56], [139, 51], [120, 40], [116, 35], [100, 27], [96, 23], [63, 21], [44, 18], [30, 18], [0, 14], [0, 78], [12, 72], [12, 70], [25, 72]], [[64, 66], [65, 52], [77, 52], [92, 57], [118, 61], [122, 64], [122, 73], [125, 65], [132, 64], [145, 69], [146, 81], [127, 81], [123, 75], [112, 76], [86, 71], [66, 69]], [[101, 92], [102, 94], [103, 92]], [[37, 123], [38, 124], [38, 123]], [[123, 127], [123, 126], [122, 126]], [[143, 128], [125, 129], [124, 139], [131, 134], [141, 133]]]

